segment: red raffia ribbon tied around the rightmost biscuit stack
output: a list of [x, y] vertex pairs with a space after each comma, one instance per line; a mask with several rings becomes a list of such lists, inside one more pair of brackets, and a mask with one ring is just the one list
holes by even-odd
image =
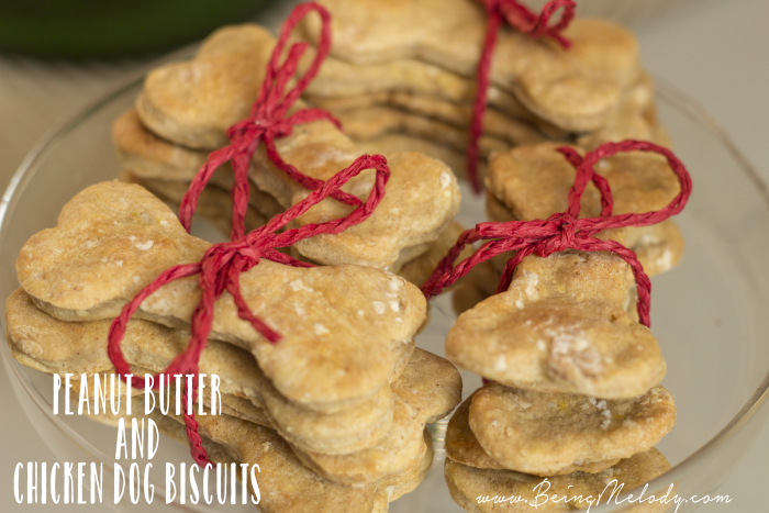
[[[678, 177], [681, 191], [670, 203], [661, 210], [640, 214], [612, 215], [614, 200], [609, 182], [597, 174], [593, 167], [606, 157], [620, 152], [654, 152], [662, 155], [673, 174]], [[505, 223], [479, 223], [475, 228], [464, 232], [456, 245], [438, 264], [427, 282], [422, 287], [422, 292], [430, 299], [433, 295], [456, 282], [467, 275], [478, 264], [486, 261], [501, 253], [516, 252], [504, 267], [500, 277], [495, 293], [503, 292], [510, 287], [513, 271], [521, 260], [528, 255], [538, 255], [546, 258], [554, 253], [566, 249], [581, 252], [611, 252], [624, 258], [633, 269], [638, 287], [638, 319], [645, 326], [650, 326], [649, 308], [651, 301], [651, 282], [644, 272], [636, 254], [615, 241], [602, 241], [594, 235], [610, 228], [626, 226], [649, 226], [661, 223], [671, 215], [676, 215], [687, 204], [692, 190], [692, 181], [689, 171], [676, 155], [662, 146], [643, 141], [624, 141], [622, 143], [606, 143], [593, 152], [581, 157], [569, 147], [558, 148], [566, 159], [577, 169], [575, 183], [569, 190], [569, 205], [566, 212], [550, 215], [546, 220], [508, 221]], [[601, 193], [601, 216], [579, 218], [580, 200], [584, 188], [592, 181]], [[466, 245], [478, 241], [488, 241], [469, 258], [454, 266], [454, 260]]]

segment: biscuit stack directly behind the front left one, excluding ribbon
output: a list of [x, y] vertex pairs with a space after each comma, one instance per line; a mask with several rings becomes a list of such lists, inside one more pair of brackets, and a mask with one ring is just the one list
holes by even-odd
[[[127, 181], [178, 205], [209, 152], [229, 143], [227, 127], [248, 116], [274, 46], [274, 38], [257, 25], [225, 27], [212, 34], [192, 60], [152, 71], [135, 108], [113, 125]], [[296, 125], [275, 145], [286, 163], [320, 180], [365, 153], [325, 120]], [[444, 254], [454, 242], [452, 236], [461, 231], [454, 222], [460, 201], [456, 178], [445, 164], [421, 153], [393, 150], [386, 157], [391, 177], [374, 215], [344, 233], [302, 241], [293, 248], [296, 257], [321, 265], [356, 264], [391, 272], [404, 269], [416, 283], [427, 278], [435, 260], [430, 255]], [[275, 166], [264, 145], [254, 156], [249, 178], [248, 227], [309, 193]], [[203, 213], [225, 228], [231, 212], [225, 191], [232, 183], [230, 168], [216, 170], [200, 203]], [[372, 185], [374, 170], [364, 171], [345, 191], [365, 198]], [[330, 199], [297, 222], [324, 222], [348, 212], [347, 205]]]

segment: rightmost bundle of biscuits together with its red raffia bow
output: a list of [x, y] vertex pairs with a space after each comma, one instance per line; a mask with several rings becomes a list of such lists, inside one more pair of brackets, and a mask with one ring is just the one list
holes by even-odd
[[[644, 142], [586, 155], [520, 147], [495, 155], [489, 177], [506, 200], [497, 205], [506, 221], [462, 234], [424, 287], [430, 295], [502, 263], [499, 274], [488, 266], [466, 283], [484, 283], [464, 294], [480, 301], [465, 304], [446, 338], [448, 358], [487, 379], [448, 424], [446, 482], [468, 512], [528, 511], [543, 477], [547, 493], [581, 495], [570, 506], [588, 508], [613, 480], [628, 490], [670, 468], [654, 448], [676, 409], [659, 384], [666, 364], [648, 328], [644, 270], [680, 256], [680, 236], [666, 223], [684, 207], [691, 180], [670, 150]], [[453, 266], [462, 245], [480, 241], [489, 242]], [[502, 509], [476, 500], [494, 495], [523, 499]]]

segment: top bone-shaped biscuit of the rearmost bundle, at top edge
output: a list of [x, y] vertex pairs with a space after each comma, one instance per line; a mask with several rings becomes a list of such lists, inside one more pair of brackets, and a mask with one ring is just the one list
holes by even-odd
[[[417, 58], [473, 76], [486, 33], [486, 13], [468, 0], [409, 2], [326, 0], [334, 16], [332, 55], [355, 64]], [[394, 30], [393, 27], [397, 27]], [[316, 41], [317, 20], [303, 22]], [[638, 75], [637, 43], [624, 29], [598, 20], [576, 20], [564, 34], [569, 51], [502, 30], [491, 65], [491, 82], [567, 130], [595, 130]]]

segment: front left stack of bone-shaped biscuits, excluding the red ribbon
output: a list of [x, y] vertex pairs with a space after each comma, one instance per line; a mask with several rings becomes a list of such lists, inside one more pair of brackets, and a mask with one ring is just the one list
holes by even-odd
[[[51, 373], [112, 372], [111, 320], [160, 271], [199, 261], [208, 247], [142, 187], [89, 187], [19, 255], [22, 288], [7, 302], [14, 356]], [[383, 511], [430, 466], [425, 423], [448, 414], [461, 394], [452, 364], [414, 348], [424, 297], [403, 278], [350, 265], [263, 260], [239, 283], [248, 308], [282, 339], [256, 334], [230, 295], [218, 300], [200, 372], [220, 377], [224, 415], [200, 417], [203, 434], [263, 472], [265, 459], [277, 458], [282, 473], [314, 483], [308, 490], [316, 493], [301, 500], [339, 494], [361, 504], [350, 511]], [[160, 371], [186, 347], [199, 300], [197, 279], [187, 278], [142, 303], [123, 342], [134, 372]], [[163, 425], [172, 432], [177, 422]], [[276, 453], [249, 453], [265, 440]], [[286, 511], [298, 500], [297, 482], [275, 479], [277, 502], [265, 511]]]

